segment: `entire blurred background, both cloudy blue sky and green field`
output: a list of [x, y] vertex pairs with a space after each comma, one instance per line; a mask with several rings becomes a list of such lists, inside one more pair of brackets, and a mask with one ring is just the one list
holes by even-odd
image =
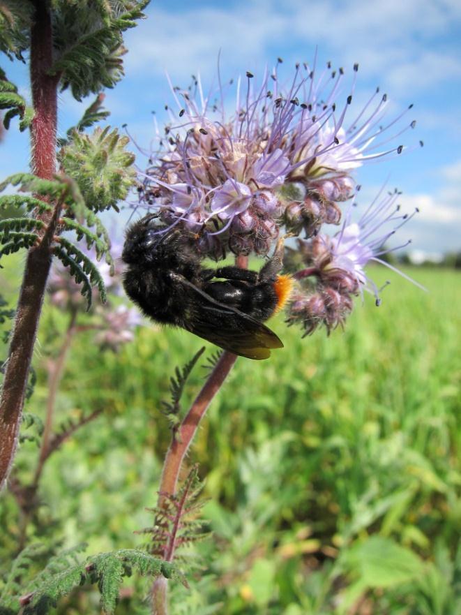
[[[387, 180], [409, 211], [421, 209], [405, 228], [414, 253], [404, 270], [428, 288], [375, 267], [378, 286], [392, 281], [379, 309], [372, 297], [358, 299], [344, 331], [305, 339], [278, 316], [271, 327], [285, 349], [264, 362], [237, 361], [187, 460], [205, 481], [212, 535], [184, 554], [192, 587], [174, 587], [172, 613], [460, 614], [460, 3], [158, 1], [147, 13], [126, 37], [126, 79], [105, 101], [111, 124], [128, 124], [140, 147], [150, 147], [152, 112], [161, 125], [172, 102], [165, 71], [173, 84], [200, 74], [211, 87], [219, 53], [226, 80], [263, 73], [278, 57], [287, 77], [316, 53], [319, 66], [331, 60], [351, 78], [358, 62], [358, 104], [378, 85], [394, 114], [414, 103], [408, 118], [418, 123], [402, 137], [414, 151], [357, 176], [365, 201]], [[27, 94], [26, 69], [6, 69]], [[61, 95], [62, 133], [87, 103]], [[28, 155], [27, 135], [6, 133], [2, 175], [27, 168]], [[142, 154], [137, 164], [146, 165]], [[14, 307], [22, 258], [2, 263], [2, 292]], [[146, 507], [156, 503], [171, 437], [161, 402], [174, 368], [202, 346], [185, 332], [128, 321], [130, 333], [116, 339], [123, 327], [107, 325], [100, 307], [86, 313], [62, 279], [62, 300], [51, 290], [29, 418], [0, 504], [0, 561], [40, 541], [43, 558], [82, 542], [88, 554], [145, 544], [133, 532], [152, 522]], [[120, 313], [126, 300], [113, 290], [107, 309]], [[214, 350], [207, 345], [192, 372], [184, 409]], [[28, 495], [21, 486], [33, 483], [50, 403], [54, 433], [66, 437]], [[149, 612], [143, 582], [126, 582], [117, 612]], [[58, 612], [98, 612], [98, 594], [80, 588]]]

